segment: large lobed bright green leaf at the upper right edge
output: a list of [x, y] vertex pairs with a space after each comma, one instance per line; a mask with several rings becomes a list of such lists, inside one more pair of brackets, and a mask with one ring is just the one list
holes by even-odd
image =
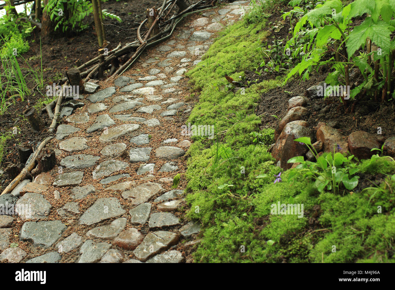
[[366, 17], [361, 25], [355, 27], [347, 40], [348, 58], [354, 52], [366, 43], [369, 37], [372, 42], [376, 43], [382, 50], [388, 50], [391, 47], [391, 31], [395, 28], [388, 23], [380, 20], [377, 23], [373, 21], [372, 17]]

